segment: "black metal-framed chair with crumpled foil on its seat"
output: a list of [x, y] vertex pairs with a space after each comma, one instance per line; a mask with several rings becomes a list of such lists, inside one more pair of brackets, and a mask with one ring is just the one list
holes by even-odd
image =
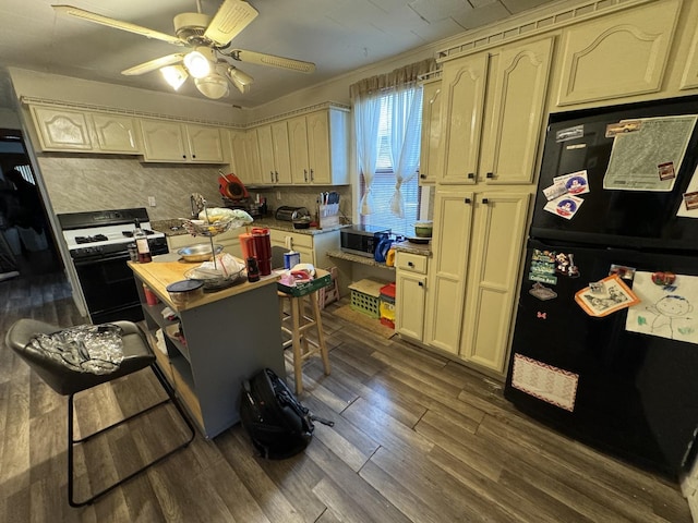
[[[57, 342], [56, 340], [59, 341]], [[101, 342], [100, 340], [107, 341]], [[69, 397], [68, 502], [71, 507], [91, 504], [96, 498], [122, 485], [178, 450], [188, 447], [194, 439], [194, 427], [177, 401], [172, 388], [169, 386], [166, 378], [163, 376], [161, 370], [156, 365], [155, 354], [151, 350], [144, 333], [137, 325], [131, 321], [115, 321], [104, 326], [85, 325], [61, 329], [60, 327], [45, 321], [24, 318], [19, 319], [10, 327], [10, 330], [8, 330], [8, 333], [5, 335], [5, 343], [8, 346], [12, 348], [15, 353], [24, 360], [51, 389], [59, 394]], [[91, 352], [91, 348], [97, 346], [97, 351], [99, 351], [99, 343], [105, 348], [99, 355], [106, 355], [104, 357], [92, 357], [93, 352]], [[75, 439], [73, 434], [75, 394], [98, 385], [113, 381], [146, 367], [151, 367], [157, 380], [167, 392], [168, 398], [88, 436]], [[177, 408], [179, 415], [189, 427], [190, 436], [188, 436], [186, 441], [178, 445], [176, 448], [151, 461], [137, 471], [129, 474], [127, 477], [119, 479], [113, 485], [100, 490], [88, 499], [84, 501], [75, 501], [73, 499], [74, 447], [169, 402]]]

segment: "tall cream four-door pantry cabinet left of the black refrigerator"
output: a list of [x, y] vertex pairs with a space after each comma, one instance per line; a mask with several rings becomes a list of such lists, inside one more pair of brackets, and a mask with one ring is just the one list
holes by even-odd
[[504, 372], [553, 38], [443, 66], [425, 343]]

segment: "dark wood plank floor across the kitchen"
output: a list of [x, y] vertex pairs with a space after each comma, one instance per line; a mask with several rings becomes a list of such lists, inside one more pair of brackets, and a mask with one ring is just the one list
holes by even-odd
[[[82, 320], [60, 275], [2, 281], [0, 295], [3, 340], [20, 317]], [[335, 426], [317, 424], [303, 453], [260, 459], [238, 425], [82, 509], [65, 500], [67, 400], [3, 341], [0, 522], [690, 522], [676, 485], [529, 421], [501, 384], [332, 311], [332, 375], [309, 362], [300, 399]], [[160, 394], [148, 370], [93, 389], [76, 401], [77, 425]], [[181, 435], [167, 408], [97, 438], [76, 453], [77, 497]]]

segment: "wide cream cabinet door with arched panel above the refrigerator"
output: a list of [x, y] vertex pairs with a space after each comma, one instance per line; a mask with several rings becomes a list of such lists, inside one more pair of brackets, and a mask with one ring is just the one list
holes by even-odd
[[650, 2], [565, 28], [557, 105], [659, 92], [681, 4]]

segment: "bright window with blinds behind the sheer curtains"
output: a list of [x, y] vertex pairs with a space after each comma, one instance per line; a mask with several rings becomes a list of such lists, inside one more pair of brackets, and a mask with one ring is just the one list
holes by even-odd
[[[405, 174], [405, 181], [400, 187], [404, 200], [404, 217], [399, 217], [390, 209], [390, 202], [395, 195], [396, 177], [395, 166], [393, 166], [392, 154], [392, 133], [393, 125], [416, 125], [413, 131], [417, 134], [417, 139], [407, 141], [406, 151], [409, 157], [409, 162], [414, 166], [419, 166], [420, 154], [420, 141], [421, 134], [421, 87], [413, 87], [408, 89], [406, 94], [398, 95], [396, 92], [389, 92], [378, 95], [380, 97], [380, 117], [378, 117], [378, 133], [377, 133], [377, 161], [376, 172], [371, 184], [371, 194], [373, 202], [373, 212], [369, 215], [360, 215], [361, 223], [368, 226], [376, 226], [385, 229], [390, 229], [396, 234], [411, 235], [413, 232], [412, 224], [419, 219], [420, 208], [420, 194], [419, 177], [417, 172]], [[414, 100], [414, 97], [418, 97]], [[414, 104], [413, 104], [414, 102]], [[400, 105], [399, 107], [394, 105]], [[409, 119], [409, 111], [417, 108], [414, 120]], [[394, 118], [396, 114], [398, 118]], [[405, 118], [400, 118], [405, 117]], [[394, 122], [393, 120], [397, 120]], [[408, 178], [410, 177], [410, 178]], [[365, 181], [361, 177], [360, 184], [360, 197], [365, 194]]]

